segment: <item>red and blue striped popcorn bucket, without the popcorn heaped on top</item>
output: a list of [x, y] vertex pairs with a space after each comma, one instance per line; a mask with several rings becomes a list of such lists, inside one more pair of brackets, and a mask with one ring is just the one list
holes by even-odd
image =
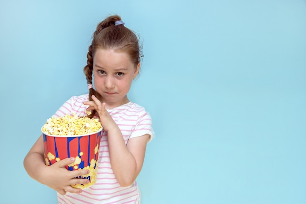
[[75, 188], [88, 188], [97, 181], [97, 164], [99, 156], [99, 144], [102, 128], [94, 133], [76, 136], [50, 135], [43, 131], [44, 137], [44, 160], [47, 166], [56, 161], [74, 157], [75, 161], [66, 166], [67, 170], [89, 169], [87, 175], [78, 177], [88, 179], [85, 184], [71, 185]]

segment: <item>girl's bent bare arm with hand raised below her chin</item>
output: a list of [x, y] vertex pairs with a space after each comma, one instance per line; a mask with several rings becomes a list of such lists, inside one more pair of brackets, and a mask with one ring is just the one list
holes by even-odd
[[137, 178], [145, 157], [149, 135], [133, 137], [127, 145], [122, 133], [105, 108], [94, 95], [93, 101], [84, 102], [89, 105], [87, 110], [95, 109], [100, 116], [100, 122], [104, 131], [108, 133], [109, 159], [111, 168], [121, 186], [131, 185]]

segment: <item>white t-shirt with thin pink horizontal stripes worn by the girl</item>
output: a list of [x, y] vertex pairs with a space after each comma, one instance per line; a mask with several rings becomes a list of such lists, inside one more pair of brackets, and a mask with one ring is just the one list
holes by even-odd
[[[88, 101], [88, 94], [72, 96], [54, 114], [61, 117], [65, 114], [85, 116], [86, 108], [83, 102]], [[122, 106], [107, 110], [122, 132], [125, 143], [132, 137], [150, 135], [153, 137], [152, 119], [145, 109], [129, 102]], [[81, 194], [59, 193], [59, 204], [140, 204], [140, 191], [137, 182], [128, 187], [121, 187], [115, 178], [109, 161], [109, 146], [107, 133], [102, 130], [98, 159], [98, 173], [96, 183]]]

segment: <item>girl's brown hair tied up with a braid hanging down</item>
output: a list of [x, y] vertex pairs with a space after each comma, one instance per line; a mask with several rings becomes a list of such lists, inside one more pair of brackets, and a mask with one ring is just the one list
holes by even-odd
[[[139, 38], [124, 24], [115, 25], [116, 21], [121, 21], [121, 17], [118, 15], [109, 16], [97, 25], [97, 29], [93, 33], [91, 45], [88, 47], [87, 65], [83, 69], [87, 84], [92, 84], [93, 57], [98, 48], [126, 52], [135, 67], [140, 63], [140, 58], [143, 57], [138, 43]], [[91, 95], [95, 95], [99, 100], [102, 100], [102, 96], [93, 88], [89, 89], [89, 101], [92, 101]], [[88, 117], [92, 118], [95, 113], [96, 111], [93, 110]]]

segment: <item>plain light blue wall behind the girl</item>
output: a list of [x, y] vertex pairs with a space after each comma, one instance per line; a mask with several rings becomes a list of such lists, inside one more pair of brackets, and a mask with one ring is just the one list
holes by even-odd
[[114, 13], [144, 46], [143, 204], [306, 203], [305, 0], [0, 0], [1, 204], [56, 203], [23, 158]]

